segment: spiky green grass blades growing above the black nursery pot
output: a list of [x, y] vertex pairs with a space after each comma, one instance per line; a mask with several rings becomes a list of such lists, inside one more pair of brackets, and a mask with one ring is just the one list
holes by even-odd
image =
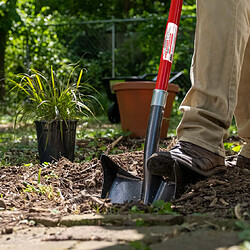
[[18, 96], [21, 92], [22, 98], [18, 103], [15, 125], [23, 119], [67, 123], [67, 120], [94, 116], [87, 104], [93, 99], [98, 100], [84, 92], [97, 91], [82, 82], [84, 69], [75, 77], [77, 68], [78, 65], [74, 66], [64, 81], [57, 77], [52, 66], [49, 78], [35, 69], [31, 69], [29, 74], [16, 75], [19, 81], [11, 80], [14, 87], [10, 91], [15, 91]]

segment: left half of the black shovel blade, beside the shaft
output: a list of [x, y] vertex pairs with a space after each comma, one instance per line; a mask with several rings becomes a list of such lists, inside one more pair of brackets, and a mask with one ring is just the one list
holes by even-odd
[[101, 198], [111, 199], [111, 203], [139, 201], [142, 197], [142, 180], [119, 167], [108, 156], [101, 156], [103, 186]]

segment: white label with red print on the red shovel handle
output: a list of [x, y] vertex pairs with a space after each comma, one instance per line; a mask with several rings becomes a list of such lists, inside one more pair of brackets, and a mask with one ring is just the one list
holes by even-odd
[[171, 63], [173, 62], [177, 30], [178, 26], [175, 23], [168, 23], [163, 45], [163, 60]]

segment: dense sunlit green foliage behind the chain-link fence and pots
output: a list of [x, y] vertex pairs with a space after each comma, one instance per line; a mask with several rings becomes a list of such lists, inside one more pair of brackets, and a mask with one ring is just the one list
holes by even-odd
[[[116, 76], [157, 73], [170, 0], [4, 0], [0, 1], [0, 29], [7, 30], [5, 79], [34, 68], [48, 73], [81, 58], [87, 69], [84, 80], [102, 93], [102, 78], [111, 72], [111, 25], [97, 22], [138, 19], [116, 23]], [[188, 78], [195, 29], [195, 0], [184, 1], [172, 71], [185, 71]], [[6, 14], [7, 13], [7, 14]], [[92, 23], [86, 23], [92, 21]], [[95, 23], [96, 22], [96, 23]], [[1, 40], [1, 34], [0, 34]], [[182, 97], [190, 83], [181, 84]], [[8, 91], [11, 83], [5, 80]], [[4, 99], [12, 99], [5, 92]], [[181, 98], [180, 98], [181, 99]], [[106, 104], [107, 103], [107, 104]]]

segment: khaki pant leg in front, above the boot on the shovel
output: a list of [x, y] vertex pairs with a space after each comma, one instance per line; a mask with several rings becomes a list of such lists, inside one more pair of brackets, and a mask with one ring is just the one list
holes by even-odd
[[192, 87], [180, 106], [177, 135], [225, 155], [249, 37], [249, 0], [197, 0]]

